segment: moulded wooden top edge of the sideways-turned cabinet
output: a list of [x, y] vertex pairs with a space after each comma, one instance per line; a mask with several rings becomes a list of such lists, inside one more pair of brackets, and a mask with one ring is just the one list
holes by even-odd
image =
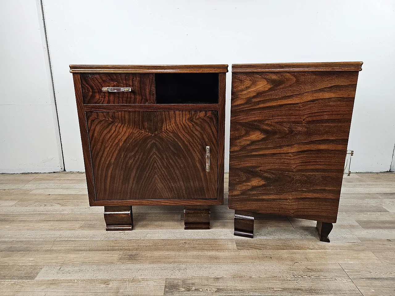
[[361, 71], [363, 62], [232, 64], [232, 73], [238, 72], [310, 72]]

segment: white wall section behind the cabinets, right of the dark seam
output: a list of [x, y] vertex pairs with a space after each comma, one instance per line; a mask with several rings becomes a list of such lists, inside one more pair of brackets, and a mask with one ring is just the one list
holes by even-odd
[[[351, 169], [390, 168], [395, 144], [393, 1], [43, 3], [66, 170], [84, 170], [69, 64], [325, 61], [364, 62], [349, 141], [355, 151]], [[226, 155], [230, 82], [228, 73]]]

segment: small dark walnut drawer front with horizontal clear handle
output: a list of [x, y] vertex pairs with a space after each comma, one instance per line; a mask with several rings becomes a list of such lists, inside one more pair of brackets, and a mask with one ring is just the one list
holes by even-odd
[[[84, 104], [154, 104], [154, 74], [81, 74]], [[103, 88], [115, 88], [103, 91]], [[130, 88], [130, 91], [124, 91]]]

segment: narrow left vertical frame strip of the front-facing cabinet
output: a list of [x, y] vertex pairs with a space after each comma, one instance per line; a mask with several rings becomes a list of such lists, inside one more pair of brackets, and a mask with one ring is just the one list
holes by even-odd
[[79, 74], [73, 73], [75, 100], [77, 102], [77, 113], [79, 121], [79, 130], [81, 133], [82, 152], [84, 156], [85, 175], [87, 178], [89, 204], [96, 200], [96, 193], [93, 181], [92, 161], [90, 158], [90, 147], [88, 140], [87, 121], [85, 119], [84, 103], [81, 91], [81, 79]]

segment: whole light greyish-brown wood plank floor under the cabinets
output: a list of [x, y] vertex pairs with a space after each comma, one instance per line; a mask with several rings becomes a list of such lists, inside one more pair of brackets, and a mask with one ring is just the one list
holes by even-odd
[[274, 215], [235, 237], [226, 204], [183, 230], [182, 209], [135, 206], [133, 231], [106, 232], [84, 174], [0, 174], [0, 295], [395, 295], [393, 173], [344, 177], [329, 244]]

